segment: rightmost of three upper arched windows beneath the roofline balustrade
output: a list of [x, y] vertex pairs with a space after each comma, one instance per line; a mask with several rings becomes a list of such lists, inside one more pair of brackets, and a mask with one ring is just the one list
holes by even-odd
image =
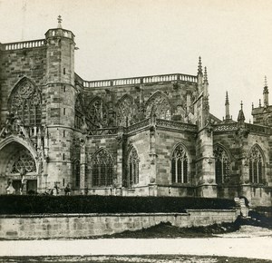
[[146, 116], [150, 118], [156, 115], [158, 119], [171, 119], [170, 103], [163, 93], [154, 93], [146, 104]]

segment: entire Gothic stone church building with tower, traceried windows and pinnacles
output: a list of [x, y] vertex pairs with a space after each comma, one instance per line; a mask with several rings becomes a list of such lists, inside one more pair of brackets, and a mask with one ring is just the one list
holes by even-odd
[[271, 205], [272, 106], [253, 123], [209, 112], [209, 82], [183, 73], [85, 81], [74, 35], [0, 44], [0, 194], [43, 193], [248, 198]]

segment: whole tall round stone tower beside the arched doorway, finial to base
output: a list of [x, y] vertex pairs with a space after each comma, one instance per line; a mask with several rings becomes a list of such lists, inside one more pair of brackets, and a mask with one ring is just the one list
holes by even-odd
[[46, 128], [44, 151], [47, 152], [47, 186], [63, 188], [71, 182], [72, 136], [74, 126], [74, 34], [62, 27], [58, 16], [57, 28], [45, 34], [46, 83], [44, 98], [46, 103]]

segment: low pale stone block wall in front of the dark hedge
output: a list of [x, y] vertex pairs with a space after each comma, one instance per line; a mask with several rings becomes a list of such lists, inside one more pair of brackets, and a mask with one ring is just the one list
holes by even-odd
[[150, 228], [160, 222], [187, 228], [233, 222], [237, 211], [188, 210], [187, 213], [1, 215], [0, 239], [87, 238]]

